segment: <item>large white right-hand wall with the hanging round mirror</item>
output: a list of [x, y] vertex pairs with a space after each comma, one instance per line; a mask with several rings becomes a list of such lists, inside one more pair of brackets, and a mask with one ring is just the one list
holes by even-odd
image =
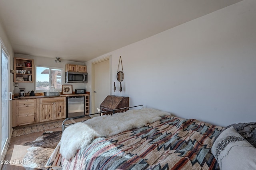
[[255, 14], [256, 1], [244, 0], [98, 59], [112, 55], [113, 86], [122, 56], [130, 106], [222, 126], [255, 122]]

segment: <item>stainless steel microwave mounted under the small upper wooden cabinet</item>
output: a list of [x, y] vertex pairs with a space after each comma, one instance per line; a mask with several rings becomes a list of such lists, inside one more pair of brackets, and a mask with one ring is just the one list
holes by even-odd
[[66, 83], [87, 83], [87, 73], [83, 72], [70, 72], [65, 74]]

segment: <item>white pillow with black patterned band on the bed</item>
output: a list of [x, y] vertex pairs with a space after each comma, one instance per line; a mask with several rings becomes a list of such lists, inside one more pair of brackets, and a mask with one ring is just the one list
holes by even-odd
[[220, 133], [212, 145], [212, 154], [221, 170], [256, 169], [256, 148], [246, 141], [233, 126]]

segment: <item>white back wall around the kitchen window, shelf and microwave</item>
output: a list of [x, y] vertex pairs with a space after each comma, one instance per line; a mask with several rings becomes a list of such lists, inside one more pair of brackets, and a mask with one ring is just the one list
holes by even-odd
[[[23, 59], [34, 59], [34, 65], [38, 66], [50, 66], [50, 67], [58, 67], [58, 68], [63, 68], [65, 71], [65, 64], [77, 64], [77, 65], [84, 65], [84, 63], [81, 62], [74, 62], [74, 61], [67, 61], [67, 60], [60, 60], [62, 61], [61, 63], [55, 63], [52, 58], [48, 57], [35, 57], [35, 56], [30, 56], [30, 55], [21, 55], [21, 54], [15, 54], [14, 57], [17, 58], [23, 58]], [[13, 66], [13, 64], [12, 64]], [[75, 91], [75, 89], [84, 89], [84, 86], [86, 84], [84, 83], [65, 83], [65, 74], [62, 75], [63, 77], [63, 82], [64, 84], [71, 84], [72, 85], [72, 91]], [[13, 80], [12, 80], [13, 82]], [[34, 83], [18, 83], [19, 86], [18, 88], [14, 88], [14, 93], [18, 94], [20, 89], [19, 88], [26, 88], [25, 92], [30, 92], [31, 90], [35, 91], [35, 81]]]

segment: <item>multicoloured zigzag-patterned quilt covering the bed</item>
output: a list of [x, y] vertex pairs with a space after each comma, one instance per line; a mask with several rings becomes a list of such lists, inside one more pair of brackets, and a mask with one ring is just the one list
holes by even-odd
[[196, 119], [164, 116], [160, 121], [112, 137], [98, 137], [63, 170], [219, 169], [211, 152], [223, 127]]

